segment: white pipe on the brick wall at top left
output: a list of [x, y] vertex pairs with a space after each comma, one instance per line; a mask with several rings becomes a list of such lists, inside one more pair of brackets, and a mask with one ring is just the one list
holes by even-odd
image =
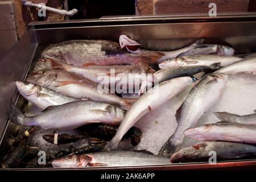
[[70, 11], [59, 10], [59, 9], [55, 9], [53, 7], [48, 7], [48, 6], [43, 6], [43, 5], [35, 4], [35, 3], [32, 3], [30, 1], [26, 1], [26, 0], [22, 0], [22, 3], [23, 3], [24, 6], [37, 7], [39, 9], [45, 9], [47, 11], [51, 11], [53, 13], [59, 13], [59, 14], [64, 15], [64, 16], [73, 16], [73, 15], [77, 14], [77, 12], [78, 12], [77, 9], [73, 9], [73, 10], [70, 10]]

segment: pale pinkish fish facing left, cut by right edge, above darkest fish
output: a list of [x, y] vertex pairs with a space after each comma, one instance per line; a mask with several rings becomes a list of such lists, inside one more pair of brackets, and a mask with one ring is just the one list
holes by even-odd
[[256, 126], [223, 121], [192, 127], [184, 135], [197, 140], [256, 143]]

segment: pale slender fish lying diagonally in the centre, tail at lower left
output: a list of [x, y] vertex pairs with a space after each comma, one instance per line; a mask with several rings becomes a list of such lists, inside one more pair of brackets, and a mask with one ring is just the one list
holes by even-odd
[[179, 77], [162, 82], [158, 86], [149, 89], [143, 94], [127, 111], [117, 133], [105, 146], [105, 150], [115, 150], [123, 135], [132, 127], [143, 115], [157, 109], [164, 102], [171, 100], [182, 92], [188, 85], [192, 84], [191, 77]]

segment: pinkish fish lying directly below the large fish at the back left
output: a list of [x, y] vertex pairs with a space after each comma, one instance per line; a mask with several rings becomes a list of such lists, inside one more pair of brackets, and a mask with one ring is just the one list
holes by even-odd
[[40, 66], [38, 65], [38, 69], [62, 69], [77, 73], [89, 80], [106, 86], [115, 86], [116, 84], [128, 85], [127, 83], [129, 81], [127, 79], [134, 80], [134, 85], [140, 85], [148, 73], [155, 72], [154, 69], [143, 62], [135, 65], [92, 65], [88, 67], [77, 67], [51, 59], [40, 59], [38, 63], [41, 63], [39, 64]]

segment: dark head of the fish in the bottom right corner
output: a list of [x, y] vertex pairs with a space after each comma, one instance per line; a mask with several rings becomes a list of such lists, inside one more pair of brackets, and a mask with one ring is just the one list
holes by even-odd
[[171, 156], [171, 162], [195, 162], [205, 147], [207, 147], [207, 143], [197, 143], [194, 146], [184, 148]]

